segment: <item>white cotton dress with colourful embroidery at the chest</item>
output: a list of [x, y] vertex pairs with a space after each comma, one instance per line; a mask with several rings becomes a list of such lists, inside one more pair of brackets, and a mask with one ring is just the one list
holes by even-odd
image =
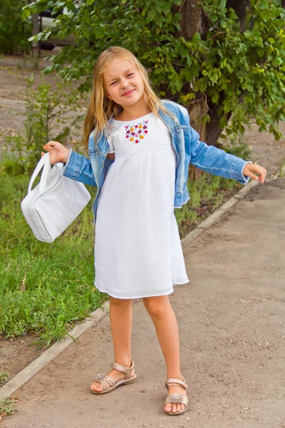
[[115, 161], [98, 197], [95, 287], [119, 299], [169, 295], [189, 282], [174, 214], [170, 132], [153, 113], [111, 125]]

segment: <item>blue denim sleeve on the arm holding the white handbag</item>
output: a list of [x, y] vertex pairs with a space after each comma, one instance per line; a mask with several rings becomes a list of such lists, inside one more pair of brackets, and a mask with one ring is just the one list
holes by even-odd
[[65, 177], [80, 181], [86, 185], [96, 186], [90, 159], [71, 149], [68, 161], [63, 163], [63, 165], [63, 175], [65, 175]]

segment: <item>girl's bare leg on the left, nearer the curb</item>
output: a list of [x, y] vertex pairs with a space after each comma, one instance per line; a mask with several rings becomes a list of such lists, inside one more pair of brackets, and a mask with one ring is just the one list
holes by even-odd
[[[131, 365], [130, 335], [132, 329], [132, 300], [115, 299], [110, 297], [110, 326], [114, 343], [114, 357], [117, 364], [125, 367]], [[133, 376], [134, 370], [131, 373]], [[114, 382], [125, 379], [125, 373], [112, 369], [108, 376]], [[90, 385], [93, 391], [103, 391], [103, 386], [99, 382]]]

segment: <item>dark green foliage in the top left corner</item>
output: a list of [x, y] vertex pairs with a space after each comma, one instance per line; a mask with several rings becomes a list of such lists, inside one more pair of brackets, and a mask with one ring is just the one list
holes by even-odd
[[1, 0], [0, 7], [0, 52], [11, 54], [17, 48], [27, 52], [31, 46], [31, 22], [21, 19], [21, 8], [27, 0]]

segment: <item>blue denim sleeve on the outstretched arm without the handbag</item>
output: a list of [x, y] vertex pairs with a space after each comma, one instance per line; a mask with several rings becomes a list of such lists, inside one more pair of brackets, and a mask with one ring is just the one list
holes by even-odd
[[[190, 125], [190, 117], [186, 108], [184, 114], [187, 116], [187, 123]], [[252, 163], [252, 161], [244, 161], [242, 158], [199, 141], [199, 133], [192, 126], [190, 126], [187, 137], [185, 138], [185, 145], [189, 147], [185, 148], [190, 153], [190, 163], [207, 173], [232, 178], [244, 185], [249, 183], [250, 177], [244, 175], [244, 166], [247, 163]]]

